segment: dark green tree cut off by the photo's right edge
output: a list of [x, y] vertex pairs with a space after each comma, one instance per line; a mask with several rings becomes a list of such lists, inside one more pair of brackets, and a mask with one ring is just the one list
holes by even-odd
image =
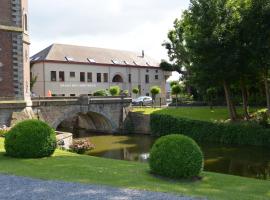
[[[270, 114], [269, 70], [270, 70], [270, 2], [251, 0], [250, 9], [244, 13], [242, 32], [250, 51], [247, 58], [254, 72], [258, 72], [265, 87], [268, 114]], [[257, 69], [257, 70], [256, 70]]]

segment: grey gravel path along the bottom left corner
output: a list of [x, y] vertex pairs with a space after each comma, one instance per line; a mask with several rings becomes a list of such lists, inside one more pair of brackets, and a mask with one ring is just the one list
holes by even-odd
[[0, 174], [0, 200], [195, 200], [166, 193], [118, 189]]

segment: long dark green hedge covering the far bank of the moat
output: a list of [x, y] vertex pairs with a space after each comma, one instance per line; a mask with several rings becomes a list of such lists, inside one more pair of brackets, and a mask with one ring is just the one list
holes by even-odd
[[270, 129], [255, 122], [216, 123], [151, 114], [154, 136], [184, 134], [198, 142], [270, 147]]

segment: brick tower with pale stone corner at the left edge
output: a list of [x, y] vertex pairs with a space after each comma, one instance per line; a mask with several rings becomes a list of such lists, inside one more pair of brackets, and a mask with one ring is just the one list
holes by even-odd
[[28, 1], [0, 0], [0, 100], [30, 100]]

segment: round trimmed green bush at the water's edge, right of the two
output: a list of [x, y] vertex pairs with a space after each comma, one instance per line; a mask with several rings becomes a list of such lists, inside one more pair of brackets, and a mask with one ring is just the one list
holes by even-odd
[[192, 178], [203, 169], [203, 154], [197, 143], [184, 135], [167, 135], [153, 145], [151, 172], [169, 178]]

